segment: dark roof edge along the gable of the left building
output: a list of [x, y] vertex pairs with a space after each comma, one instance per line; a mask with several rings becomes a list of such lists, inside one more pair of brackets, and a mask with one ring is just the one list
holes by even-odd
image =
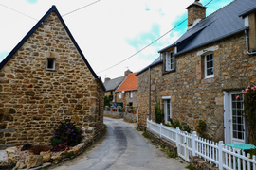
[[21, 42], [19, 42], [13, 49], [12, 51], [9, 53], [9, 55], [0, 63], [0, 70], [5, 66], [5, 64], [9, 61], [9, 59], [22, 47], [22, 45], [27, 42], [27, 39], [36, 31], [36, 29], [41, 25], [42, 22], [44, 22], [46, 20], [46, 18], [51, 14], [51, 12], [55, 12], [56, 15], [58, 16], [59, 20], [61, 21], [62, 25], [64, 26], [65, 31], [67, 32], [68, 36], [70, 37], [71, 41], [74, 43], [74, 45], [76, 46], [78, 52], [80, 53], [80, 55], [82, 56], [83, 61], [85, 62], [86, 66], [88, 67], [88, 69], [90, 70], [90, 72], [92, 73], [92, 75], [96, 78], [100, 80], [101, 83], [101, 87], [103, 88], [103, 90], [105, 90], [105, 86], [102, 83], [101, 77], [97, 76], [96, 73], [93, 71], [93, 69], [91, 68], [89, 62], [87, 61], [87, 59], [85, 59], [84, 55], [82, 54], [82, 50], [80, 49], [78, 43], [75, 41], [74, 37], [72, 36], [71, 32], [69, 31], [68, 27], [65, 25], [64, 20], [62, 18], [62, 16], [60, 15], [59, 11], [57, 10], [56, 6], [52, 6], [47, 12], [46, 14], [41, 18], [41, 20], [39, 20], [39, 22], [37, 22], [37, 24], [35, 26], [32, 27], [32, 29], [27, 33], [27, 35], [21, 40]]

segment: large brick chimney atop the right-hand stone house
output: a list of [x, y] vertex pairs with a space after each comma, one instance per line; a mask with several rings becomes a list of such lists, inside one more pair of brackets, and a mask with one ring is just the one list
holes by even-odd
[[206, 7], [204, 7], [199, 0], [195, 0], [192, 5], [187, 7], [188, 9], [188, 26], [192, 26], [196, 19], [206, 18]]

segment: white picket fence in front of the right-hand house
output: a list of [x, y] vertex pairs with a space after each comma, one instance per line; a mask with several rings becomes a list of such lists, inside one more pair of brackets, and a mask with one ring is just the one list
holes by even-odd
[[190, 162], [190, 156], [198, 156], [216, 164], [220, 170], [256, 170], [255, 155], [250, 159], [249, 154], [246, 156], [245, 152], [237, 153], [222, 141], [214, 143], [198, 137], [195, 131], [190, 134], [181, 131], [179, 127], [166, 127], [152, 120], [147, 120], [147, 129], [176, 144], [178, 156], [185, 161]]

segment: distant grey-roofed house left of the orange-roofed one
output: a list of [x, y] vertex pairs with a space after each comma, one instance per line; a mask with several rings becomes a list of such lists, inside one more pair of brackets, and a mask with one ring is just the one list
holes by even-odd
[[125, 79], [125, 77], [131, 73], [132, 72], [128, 69], [124, 72], [124, 76], [119, 76], [114, 79], [110, 79], [109, 77], [105, 78], [105, 81], [104, 81], [104, 86], [106, 89], [105, 96], [111, 95], [112, 96], [111, 102], [114, 102], [114, 103], [116, 102], [116, 98], [114, 97], [115, 91], [119, 87], [120, 83], [122, 83], [122, 81]]

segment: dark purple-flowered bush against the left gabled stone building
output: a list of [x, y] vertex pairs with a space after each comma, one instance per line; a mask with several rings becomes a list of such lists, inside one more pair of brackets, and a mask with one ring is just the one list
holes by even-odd
[[82, 141], [82, 130], [70, 121], [60, 122], [54, 135], [55, 136], [51, 140], [51, 145], [53, 146], [58, 146], [64, 143], [68, 146], [74, 146], [80, 144]]

